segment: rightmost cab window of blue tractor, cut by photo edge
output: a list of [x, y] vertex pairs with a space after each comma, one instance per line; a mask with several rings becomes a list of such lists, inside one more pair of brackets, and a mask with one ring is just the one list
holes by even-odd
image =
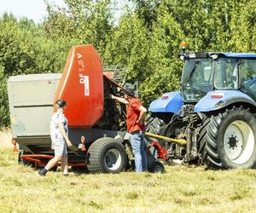
[[256, 60], [241, 60], [240, 66], [241, 91], [256, 97]]

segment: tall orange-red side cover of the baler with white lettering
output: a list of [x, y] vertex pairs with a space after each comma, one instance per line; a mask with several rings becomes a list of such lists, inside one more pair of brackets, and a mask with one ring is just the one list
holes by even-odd
[[93, 45], [74, 46], [67, 57], [55, 101], [67, 101], [68, 126], [90, 128], [102, 117], [102, 61]]

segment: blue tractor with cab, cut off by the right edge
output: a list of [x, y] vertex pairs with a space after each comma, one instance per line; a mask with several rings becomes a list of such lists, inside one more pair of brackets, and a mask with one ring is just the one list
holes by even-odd
[[161, 141], [173, 158], [212, 169], [250, 169], [256, 164], [256, 54], [195, 53], [184, 61], [181, 90], [150, 104], [148, 131], [184, 139]]

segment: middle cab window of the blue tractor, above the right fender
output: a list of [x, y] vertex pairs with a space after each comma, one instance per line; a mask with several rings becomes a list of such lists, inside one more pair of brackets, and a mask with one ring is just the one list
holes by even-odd
[[238, 63], [235, 59], [215, 61], [214, 87], [216, 89], [238, 89]]

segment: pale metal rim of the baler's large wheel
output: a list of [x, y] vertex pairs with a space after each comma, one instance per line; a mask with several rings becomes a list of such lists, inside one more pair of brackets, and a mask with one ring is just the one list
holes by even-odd
[[109, 170], [118, 170], [122, 162], [121, 154], [117, 149], [109, 149], [104, 162]]

